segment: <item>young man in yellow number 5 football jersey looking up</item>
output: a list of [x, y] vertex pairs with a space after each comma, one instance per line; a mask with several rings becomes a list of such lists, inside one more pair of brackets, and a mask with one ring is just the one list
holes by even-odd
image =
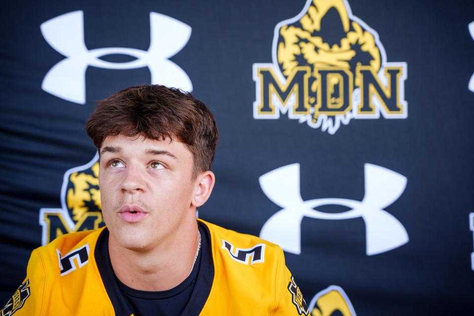
[[106, 227], [34, 250], [1, 315], [308, 314], [277, 245], [196, 219], [218, 139], [202, 102], [131, 87], [100, 101], [86, 130]]

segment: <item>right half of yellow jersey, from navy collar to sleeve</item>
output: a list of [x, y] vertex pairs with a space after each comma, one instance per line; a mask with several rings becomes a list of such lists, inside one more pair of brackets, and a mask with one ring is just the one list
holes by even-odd
[[200, 316], [308, 315], [278, 245], [200, 221], [211, 236], [214, 264], [212, 288]]

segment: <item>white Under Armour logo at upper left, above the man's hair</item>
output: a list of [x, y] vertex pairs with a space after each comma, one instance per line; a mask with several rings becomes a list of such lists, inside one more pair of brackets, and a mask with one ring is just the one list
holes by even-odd
[[[83, 12], [73, 11], [41, 24], [41, 34], [51, 47], [66, 56], [44, 76], [41, 88], [67, 101], [85, 104], [85, 71], [88, 66], [106, 69], [148, 67], [152, 84], [192, 91], [188, 75], [168, 58], [179, 52], [191, 36], [191, 27], [172, 17], [150, 12], [150, 47], [147, 51], [106, 47], [88, 50], [84, 42]], [[113, 63], [99, 59], [110, 54], [123, 54], [136, 59]]]

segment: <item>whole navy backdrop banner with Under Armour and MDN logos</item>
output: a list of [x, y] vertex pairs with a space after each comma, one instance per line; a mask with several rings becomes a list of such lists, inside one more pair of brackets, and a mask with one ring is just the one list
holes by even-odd
[[473, 1], [3, 6], [1, 307], [104, 225], [95, 102], [164, 84], [220, 130], [199, 217], [280, 245], [313, 316], [474, 313]]

